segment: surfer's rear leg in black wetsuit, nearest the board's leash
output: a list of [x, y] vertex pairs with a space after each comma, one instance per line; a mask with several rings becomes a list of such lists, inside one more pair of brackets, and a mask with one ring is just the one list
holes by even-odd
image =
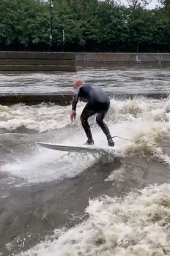
[[96, 122], [97, 124], [100, 126], [100, 128], [102, 129], [102, 131], [104, 132], [104, 134], [106, 135], [107, 137], [107, 140], [108, 140], [108, 145], [109, 146], [114, 146], [114, 142], [112, 140], [112, 137], [111, 137], [111, 133], [109, 131], [109, 128], [108, 126], [105, 124], [105, 122], [103, 121], [106, 113], [108, 112], [109, 110], [109, 107], [110, 107], [110, 104], [107, 105], [104, 105], [103, 106], [103, 111], [101, 111], [100, 113], [97, 114], [96, 116]]

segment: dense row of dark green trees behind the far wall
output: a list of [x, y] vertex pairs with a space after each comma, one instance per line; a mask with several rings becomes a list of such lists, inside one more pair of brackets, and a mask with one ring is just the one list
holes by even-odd
[[[140, 1], [140, 2], [139, 2]], [[170, 1], [0, 0], [0, 50], [170, 52]]]

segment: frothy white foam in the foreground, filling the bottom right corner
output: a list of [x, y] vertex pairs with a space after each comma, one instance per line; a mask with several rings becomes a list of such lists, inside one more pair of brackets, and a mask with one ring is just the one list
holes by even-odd
[[170, 184], [89, 201], [87, 221], [18, 256], [170, 255]]

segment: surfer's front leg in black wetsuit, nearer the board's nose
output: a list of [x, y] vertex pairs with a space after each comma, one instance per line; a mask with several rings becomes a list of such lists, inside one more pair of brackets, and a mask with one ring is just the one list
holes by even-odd
[[85, 134], [88, 138], [87, 144], [92, 145], [94, 144], [93, 137], [91, 134], [91, 128], [88, 124], [88, 118], [90, 116], [93, 116], [96, 114], [95, 109], [93, 108], [93, 105], [91, 105], [89, 102], [85, 105], [85, 108], [82, 111], [82, 114], [80, 116], [80, 120], [82, 123], [82, 127], [84, 128]]

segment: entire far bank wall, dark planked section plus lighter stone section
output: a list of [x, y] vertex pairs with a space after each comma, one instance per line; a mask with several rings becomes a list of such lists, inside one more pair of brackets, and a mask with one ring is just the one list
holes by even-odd
[[65, 71], [79, 67], [170, 66], [170, 53], [130, 52], [6, 52], [0, 51], [0, 71]]

